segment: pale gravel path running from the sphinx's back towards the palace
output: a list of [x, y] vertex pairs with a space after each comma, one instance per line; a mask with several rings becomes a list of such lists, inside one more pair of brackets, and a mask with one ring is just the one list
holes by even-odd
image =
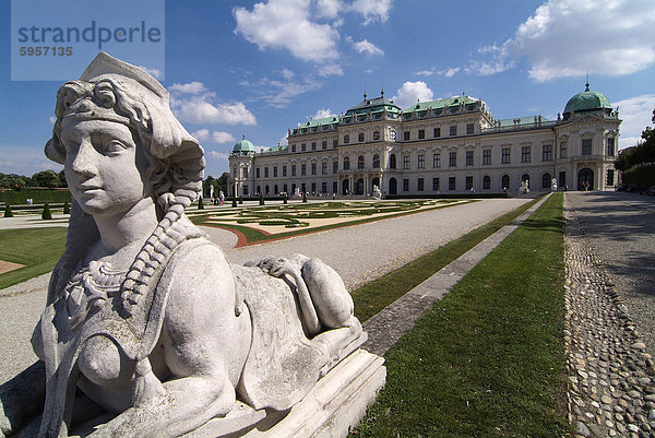
[[[529, 199], [490, 199], [364, 225], [226, 250], [242, 264], [262, 256], [303, 253], [330, 264], [353, 291], [516, 209]], [[221, 241], [216, 241], [221, 245]]]

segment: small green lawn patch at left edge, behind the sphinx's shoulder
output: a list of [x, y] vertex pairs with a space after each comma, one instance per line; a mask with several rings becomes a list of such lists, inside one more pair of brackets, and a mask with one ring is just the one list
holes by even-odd
[[0, 274], [0, 289], [52, 271], [66, 247], [67, 228], [0, 229], [0, 260], [24, 268]]

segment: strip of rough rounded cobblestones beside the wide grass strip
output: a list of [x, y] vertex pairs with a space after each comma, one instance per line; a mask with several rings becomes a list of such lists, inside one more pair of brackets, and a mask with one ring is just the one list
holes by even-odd
[[655, 437], [654, 363], [564, 201], [568, 407], [575, 437]]

